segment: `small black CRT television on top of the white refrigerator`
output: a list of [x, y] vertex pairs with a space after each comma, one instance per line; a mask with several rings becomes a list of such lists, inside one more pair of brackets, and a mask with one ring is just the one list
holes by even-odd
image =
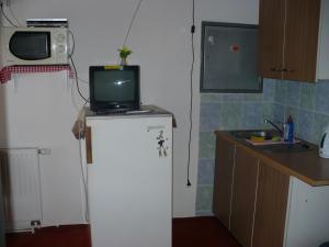
[[125, 112], [139, 109], [139, 66], [90, 66], [90, 109]]

